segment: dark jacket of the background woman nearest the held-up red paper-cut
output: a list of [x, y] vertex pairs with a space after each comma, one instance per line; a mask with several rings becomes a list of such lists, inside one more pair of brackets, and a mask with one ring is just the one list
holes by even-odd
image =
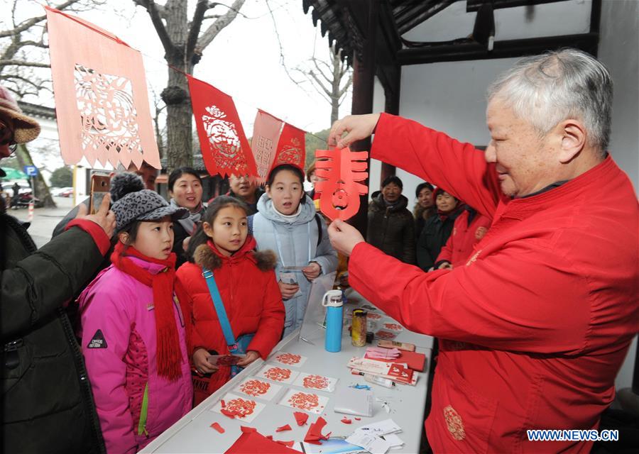
[[368, 204], [366, 243], [405, 263], [415, 263], [415, 221], [406, 209], [408, 199], [386, 206], [381, 192], [373, 192]]

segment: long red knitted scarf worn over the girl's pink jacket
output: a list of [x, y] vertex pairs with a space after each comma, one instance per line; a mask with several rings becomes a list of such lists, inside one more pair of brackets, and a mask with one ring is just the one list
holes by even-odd
[[[165, 269], [153, 275], [126, 258], [125, 253], [146, 262], [164, 265]], [[120, 241], [116, 244], [114, 253], [111, 254], [111, 262], [118, 270], [153, 288], [155, 336], [158, 339], [158, 375], [166, 377], [172, 382], [178, 380], [182, 375], [182, 350], [180, 349], [178, 327], [173, 315], [173, 292], [178, 295], [178, 301], [182, 306], [187, 304], [188, 298], [180, 282], [175, 280], [175, 258], [175, 253], [171, 253], [167, 260], [150, 258], [139, 253], [132, 246], [125, 246]], [[184, 313], [182, 311], [182, 314]], [[190, 337], [190, 319], [184, 316], [182, 319], [184, 319], [188, 339]], [[190, 351], [188, 347], [187, 351]]]

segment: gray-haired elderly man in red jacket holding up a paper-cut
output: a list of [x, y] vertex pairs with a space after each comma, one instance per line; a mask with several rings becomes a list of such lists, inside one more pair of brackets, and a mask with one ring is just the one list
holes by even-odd
[[638, 331], [639, 209], [606, 152], [612, 99], [601, 63], [562, 50], [521, 60], [490, 87], [485, 153], [387, 114], [332, 128], [341, 147], [374, 131], [371, 157], [493, 218], [465, 266], [430, 273], [344, 222], [329, 228], [355, 289], [444, 339], [426, 422], [437, 453], [591, 448], [581, 433], [535, 442], [527, 430], [596, 430]]

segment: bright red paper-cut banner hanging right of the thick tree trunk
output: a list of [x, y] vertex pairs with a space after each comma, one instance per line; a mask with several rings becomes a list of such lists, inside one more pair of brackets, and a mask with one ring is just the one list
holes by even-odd
[[188, 76], [191, 105], [204, 165], [210, 175], [249, 175], [257, 170], [233, 98]]

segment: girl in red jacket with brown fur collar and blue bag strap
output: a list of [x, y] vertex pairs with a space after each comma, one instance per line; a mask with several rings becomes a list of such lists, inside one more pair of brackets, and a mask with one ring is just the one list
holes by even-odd
[[[256, 252], [256, 242], [249, 236], [247, 213], [243, 201], [230, 196], [217, 197], [190, 241], [189, 262], [177, 273], [190, 297], [192, 363], [200, 377], [210, 375], [208, 383], [204, 382], [206, 389], [202, 389], [201, 379], [195, 380], [195, 404], [231, 377], [231, 367], [218, 367], [207, 361], [209, 352], [246, 353], [237, 364], [245, 367], [260, 357], [266, 358], [280, 341], [284, 328], [282, 294], [273, 271], [275, 253]], [[216, 309], [209, 283], [202, 275], [203, 272], [209, 275], [207, 270], [212, 272], [235, 344], [229, 345], [229, 333], [224, 336], [224, 314]], [[234, 349], [235, 345], [239, 350]]]

